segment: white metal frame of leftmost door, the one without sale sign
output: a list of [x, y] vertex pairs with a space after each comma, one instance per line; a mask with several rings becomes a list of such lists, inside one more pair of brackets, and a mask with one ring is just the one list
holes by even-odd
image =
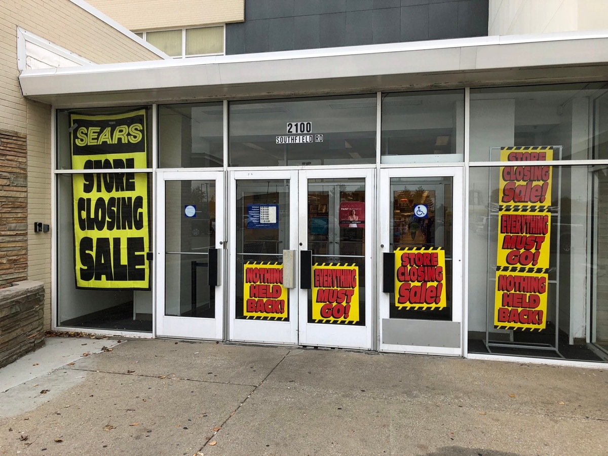
[[[221, 280], [215, 288], [215, 318], [165, 316], [165, 182], [167, 181], [215, 181], [215, 199], [225, 201], [223, 171], [158, 171], [156, 186], [156, 323], [157, 336], [185, 337], [187, 339], [222, 340], [224, 337], [224, 288]], [[216, 204], [215, 248], [223, 254], [224, 204]], [[222, 258], [223, 260], [223, 258]]]

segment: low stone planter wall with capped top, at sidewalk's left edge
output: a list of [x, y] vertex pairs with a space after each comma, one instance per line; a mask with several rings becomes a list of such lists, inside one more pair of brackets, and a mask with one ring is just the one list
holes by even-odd
[[0, 289], [0, 367], [44, 344], [44, 283]]

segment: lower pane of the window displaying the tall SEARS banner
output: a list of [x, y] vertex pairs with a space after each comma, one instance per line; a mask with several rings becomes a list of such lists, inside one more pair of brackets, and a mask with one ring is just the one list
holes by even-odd
[[[142, 197], [139, 204], [133, 195], [112, 199], [97, 189], [77, 198], [83, 182], [103, 185], [110, 175], [57, 174], [57, 323], [71, 328], [151, 332], [152, 292], [116, 286], [123, 279], [151, 283], [147, 257], [151, 250], [150, 200]], [[117, 174], [112, 175], [118, 182]], [[144, 187], [143, 194], [151, 195], [151, 174], [132, 173], [126, 179], [133, 182], [137, 176], [143, 176], [148, 185], [150, 193]], [[77, 282], [80, 280], [88, 284]]]

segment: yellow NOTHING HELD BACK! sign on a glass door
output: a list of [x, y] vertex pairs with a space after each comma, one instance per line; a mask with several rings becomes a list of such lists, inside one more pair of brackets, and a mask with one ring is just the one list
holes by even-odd
[[287, 297], [283, 288], [283, 264], [245, 263], [243, 271], [243, 316], [285, 320]]

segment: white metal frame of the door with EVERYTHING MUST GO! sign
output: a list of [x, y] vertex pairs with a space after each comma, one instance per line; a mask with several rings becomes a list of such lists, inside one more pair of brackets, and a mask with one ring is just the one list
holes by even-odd
[[[300, 208], [308, 207], [308, 179], [322, 178], [364, 178], [365, 179], [365, 220], [368, 221], [365, 226], [365, 269], [367, 273], [365, 278], [365, 326], [353, 325], [337, 325], [324, 323], [308, 323], [308, 315], [306, 305], [308, 300], [308, 289], [299, 290], [300, 300], [300, 324], [299, 324], [299, 344], [312, 345], [322, 347], [340, 347], [340, 348], [361, 348], [371, 350], [372, 348], [372, 328], [375, 323], [375, 315], [372, 305], [373, 289], [375, 287], [375, 227], [373, 221], [376, 220], [375, 201], [375, 169], [374, 168], [342, 168], [339, 173], [336, 170], [310, 170], [305, 169], [300, 171], [299, 185], [299, 203]], [[308, 249], [308, 223], [306, 210], [300, 209], [300, 249]], [[359, 288], [361, 290], [361, 288]]]

